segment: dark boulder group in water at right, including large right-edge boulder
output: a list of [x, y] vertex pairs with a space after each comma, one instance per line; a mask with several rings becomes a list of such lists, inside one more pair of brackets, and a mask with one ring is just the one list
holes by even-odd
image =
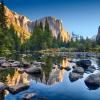
[[90, 60], [80, 60], [76, 62], [76, 66], [73, 66], [73, 70], [69, 73], [69, 79], [71, 82], [76, 81], [83, 77], [84, 73], [91, 73], [84, 80], [86, 86], [89, 89], [97, 89], [100, 87], [100, 72], [92, 74], [96, 70]]

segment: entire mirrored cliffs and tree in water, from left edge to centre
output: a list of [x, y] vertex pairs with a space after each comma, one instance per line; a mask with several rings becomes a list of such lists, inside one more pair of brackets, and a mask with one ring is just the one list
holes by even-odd
[[54, 64], [53, 59], [50, 57], [44, 60], [46, 65], [42, 67], [43, 72], [35, 75], [28, 75], [27, 73], [19, 73], [18, 69], [7, 69], [1, 72], [0, 81], [8, 86], [15, 86], [20, 83], [29, 84], [29, 81], [35, 80], [47, 85], [52, 85], [63, 81], [64, 69], [59, 68], [59, 64], [65, 68], [69, 65], [67, 59], [61, 60], [59, 63]]

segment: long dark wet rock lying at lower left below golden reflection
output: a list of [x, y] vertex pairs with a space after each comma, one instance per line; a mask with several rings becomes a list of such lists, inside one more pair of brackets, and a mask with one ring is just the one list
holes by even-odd
[[17, 94], [19, 92], [25, 91], [29, 88], [29, 85], [26, 84], [19, 84], [17, 86], [10, 86], [8, 87], [8, 91], [12, 94]]

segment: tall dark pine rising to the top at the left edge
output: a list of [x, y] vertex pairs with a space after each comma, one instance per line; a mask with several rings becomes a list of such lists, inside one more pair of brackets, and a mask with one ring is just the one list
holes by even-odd
[[4, 0], [0, 3], [0, 51], [8, 50], [9, 39], [8, 39], [8, 29], [7, 29], [7, 18], [5, 15]]

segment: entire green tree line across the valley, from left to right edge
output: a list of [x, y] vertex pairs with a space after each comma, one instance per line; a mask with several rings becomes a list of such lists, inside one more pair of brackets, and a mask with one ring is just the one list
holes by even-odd
[[[93, 40], [81, 37], [80, 39], [73, 38], [71, 41], [63, 42], [60, 37], [60, 33], [57, 38], [53, 37], [50, 28], [49, 22], [46, 19], [45, 25], [42, 22], [35, 22], [33, 32], [30, 39], [26, 42], [21, 43], [21, 37], [18, 36], [13, 25], [10, 27], [7, 26], [7, 17], [5, 15], [4, 1], [1, 1], [0, 4], [0, 55], [5, 53], [5, 51], [18, 52], [18, 53], [27, 53], [46, 50], [48, 48], [74, 48], [76, 51], [89, 51], [90, 49], [100, 47], [100, 39]], [[100, 48], [98, 49], [100, 50]]]

